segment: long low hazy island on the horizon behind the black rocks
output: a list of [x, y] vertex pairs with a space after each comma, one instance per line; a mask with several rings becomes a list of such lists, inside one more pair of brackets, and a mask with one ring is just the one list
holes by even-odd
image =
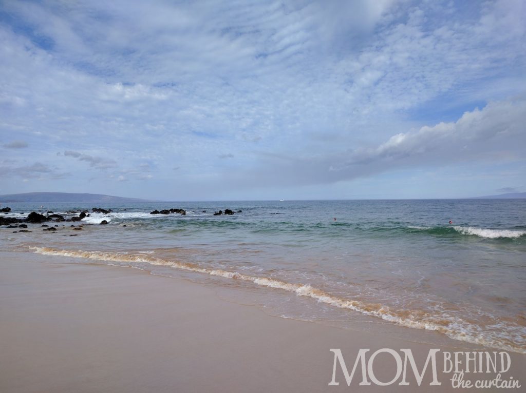
[[70, 192], [26, 192], [23, 194], [0, 195], [0, 202], [154, 202], [138, 198], [123, 198], [104, 194], [76, 194]]

